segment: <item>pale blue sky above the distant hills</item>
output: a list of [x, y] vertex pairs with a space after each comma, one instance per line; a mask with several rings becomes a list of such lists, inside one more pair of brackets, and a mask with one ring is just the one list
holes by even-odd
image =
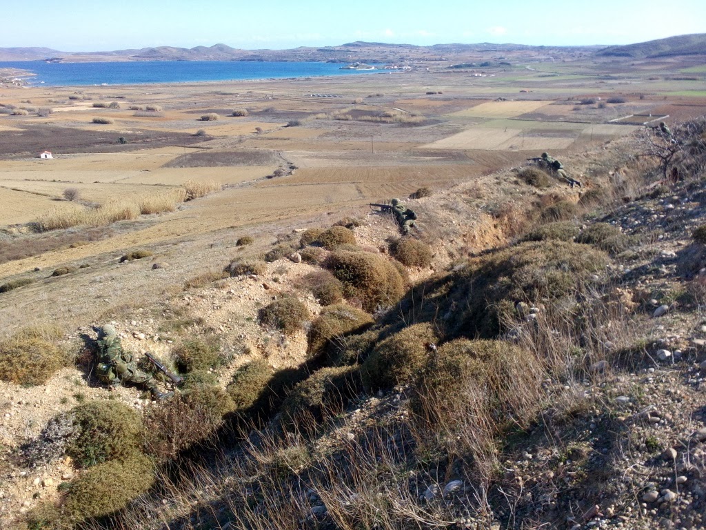
[[354, 40], [431, 45], [630, 44], [706, 33], [705, 0], [32, 0], [3, 7], [0, 47], [284, 49]]

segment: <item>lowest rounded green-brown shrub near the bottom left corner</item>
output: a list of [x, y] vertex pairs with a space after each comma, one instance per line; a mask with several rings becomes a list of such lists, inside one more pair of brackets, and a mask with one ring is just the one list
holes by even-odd
[[71, 482], [62, 513], [73, 523], [124, 508], [155, 483], [154, 466], [144, 455], [98, 464]]

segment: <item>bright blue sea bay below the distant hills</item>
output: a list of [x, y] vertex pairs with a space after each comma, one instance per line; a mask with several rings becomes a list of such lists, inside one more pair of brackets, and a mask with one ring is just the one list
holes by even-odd
[[341, 70], [341, 63], [275, 61], [139, 61], [99, 63], [47, 63], [0, 61], [1, 68], [34, 73], [32, 85], [134, 85], [140, 83], [191, 83], [309, 76], [351, 76], [383, 72]]

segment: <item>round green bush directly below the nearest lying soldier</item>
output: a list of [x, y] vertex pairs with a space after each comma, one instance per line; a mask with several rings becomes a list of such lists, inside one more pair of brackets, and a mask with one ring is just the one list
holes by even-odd
[[120, 401], [90, 401], [67, 413], [74, 435], [66, 454], [79, 466], [90, 467], [114, 459], [127, 459], [140, 452], [140, 415]]

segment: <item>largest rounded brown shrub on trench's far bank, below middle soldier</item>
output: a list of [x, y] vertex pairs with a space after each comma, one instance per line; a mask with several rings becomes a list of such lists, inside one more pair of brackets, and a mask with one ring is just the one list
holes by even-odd
[[377, 254], [339, 250], [328, 256], [325, 267], [343, 284], [344, 294], [361, 300], [367, 312], [395, 304], [405, 290], [395, 266]]

